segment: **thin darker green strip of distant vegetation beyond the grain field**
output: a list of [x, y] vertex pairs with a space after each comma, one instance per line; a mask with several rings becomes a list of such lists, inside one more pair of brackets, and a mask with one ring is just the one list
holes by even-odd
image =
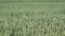
[[30, 1], [30, 2], [64, 2], [65, 0], [0, 0], [0, 1], [21, 1], [21, 2], [23, 2], [23, 1], [25, 1], [25, 2], [28, 2], [28, 1]]

